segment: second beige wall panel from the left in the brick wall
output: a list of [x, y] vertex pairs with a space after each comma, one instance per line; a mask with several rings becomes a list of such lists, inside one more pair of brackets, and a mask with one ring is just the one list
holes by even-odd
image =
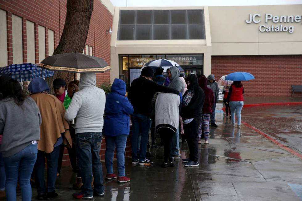
[[22, 18], [12, 15], [13, 63], [23, 63]]

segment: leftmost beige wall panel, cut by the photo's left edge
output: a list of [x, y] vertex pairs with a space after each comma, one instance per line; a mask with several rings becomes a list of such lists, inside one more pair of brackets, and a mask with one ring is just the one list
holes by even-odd
[[6, 11], [0, 10], [0, 67], [7, 66]]

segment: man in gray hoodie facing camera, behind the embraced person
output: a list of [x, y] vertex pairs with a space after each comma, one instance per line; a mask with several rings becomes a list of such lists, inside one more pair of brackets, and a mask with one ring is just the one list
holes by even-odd
[[[170, 79], [170, 84], [169, 87], [176, 89], [184, 94], [185, 90], [185, 84], [182, 82], [180, 79], [180, 71], [178, 67], [172, 66], [168, 68], [167, 70], [168, 77]], [[179, 115], [178, 115], [179, 118]], [[180, 154], [179, 154], [179, 127], [177, 127], [177, 131], [172, 137], [172, 155], [175, 159], [180, 159]]]

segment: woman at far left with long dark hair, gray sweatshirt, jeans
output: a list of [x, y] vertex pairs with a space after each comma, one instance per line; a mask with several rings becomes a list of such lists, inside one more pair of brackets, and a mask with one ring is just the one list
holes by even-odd
[[42, 122], [40, 111], [35, 101], [24, 94], [17, 80], [1, 76], [0, 93], [4, 97], [0, 101], [0, 151], [6, 175], [6, 200], [16, 200], [19, 181], [22, 200], [30, 201], [30, 179], [37, 159]]

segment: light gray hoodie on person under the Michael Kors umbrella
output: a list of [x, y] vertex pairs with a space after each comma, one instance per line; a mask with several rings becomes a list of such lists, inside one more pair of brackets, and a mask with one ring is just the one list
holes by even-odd
[[76, 134], [102, 132], [106, 96], [104, 90], [96, 87], [96, 74], [81, 74], [79, 88], [80, 91], [73, 95], [64, 118], [67, 121], [76, 118]]

